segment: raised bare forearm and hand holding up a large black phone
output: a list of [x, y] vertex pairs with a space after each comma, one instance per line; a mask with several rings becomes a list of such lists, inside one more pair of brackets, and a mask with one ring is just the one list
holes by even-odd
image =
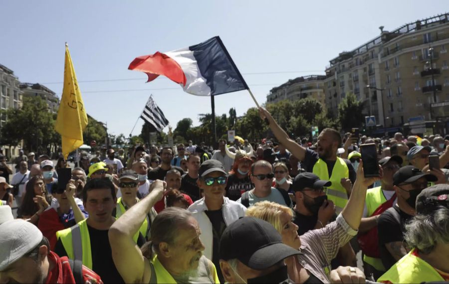
[[[382, 176], [382, 168], [380, 166], [379, 171]], [[351, 196], [349, 197], [348, 203], [345, 208], [343, 208], [341, 213], [343, 218], [345, 218], [346, 223], [348, 223], [352, 229], [357, 230], [360, 226], [368, 186], [380, 179], [380, 177], [365, 178], [363, 174], [363, 161], [360, 160], [360, 165], [357, 169], [357, 178], [354, 186], [352, 187]]]

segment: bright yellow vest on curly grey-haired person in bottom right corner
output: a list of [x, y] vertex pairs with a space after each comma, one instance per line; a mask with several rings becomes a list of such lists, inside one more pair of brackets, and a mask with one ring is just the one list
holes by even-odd
[[394, 264], [377, 282], [391, 283], [423, 283], [445, 281], [443, 277], [427, 262], [410, 253]]

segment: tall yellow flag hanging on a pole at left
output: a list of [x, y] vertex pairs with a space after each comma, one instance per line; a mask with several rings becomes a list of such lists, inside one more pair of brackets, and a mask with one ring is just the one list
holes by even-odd
[[62, 136], [62, 154], [67, 159], [70, 152], [83, 145], [83, 130], [87, 114], [78, 87], [72, 58], [65, 45], [64, 87], [54, 129]]

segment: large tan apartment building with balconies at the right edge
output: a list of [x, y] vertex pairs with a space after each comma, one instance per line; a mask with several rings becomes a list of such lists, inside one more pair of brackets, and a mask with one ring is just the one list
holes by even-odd
[[384, 128], [416, 116], [434, 122], [431, 104], [449, 102], [449, 13], [380, 29], [380, 36], [330, 60], [326, 106], [336, 114], [341, 99], [353, 93]]

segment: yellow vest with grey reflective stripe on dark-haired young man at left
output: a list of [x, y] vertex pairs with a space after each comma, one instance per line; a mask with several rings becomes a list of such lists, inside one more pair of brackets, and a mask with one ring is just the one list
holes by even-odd
[[[134, 242], [137, 243], [138, 237], [139, 232], [134, 235]], [[92, 269], [92, 251], [90, 249], [87, 219], [84, 219], [73, 227], [57, 231], [56, 238], [61, 240], [69, 259], [79, 260], [85, 267]]]

